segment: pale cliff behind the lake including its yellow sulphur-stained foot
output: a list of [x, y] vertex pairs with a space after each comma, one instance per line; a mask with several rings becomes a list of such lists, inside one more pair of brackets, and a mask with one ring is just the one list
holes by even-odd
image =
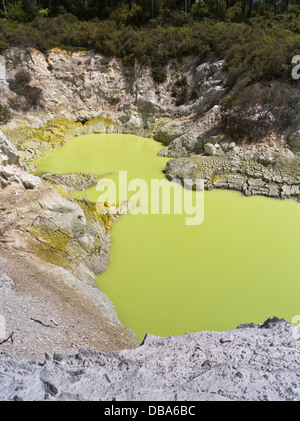
[[[26, 105], [26, 99], [10, 89], [9, 81], [20, 70], [30, 75], [32, 87], [41, 90], [39, 105]], [[268, 104], [263, 104], [263, 111], [250, 107], [252, 138], [262, 131], [262, 114], [272, 122], [255, 145], [237, 146], [224, 133], [219, 104], [228, 88], [222, 61], [198, 65], [197, 58], [187, 57], [181, 64], [171, 62], [166, 73], [166, 81], [158, 85], [149, 68], [136, 65], [128, 70], [119, 60], [91, 51], [53, 49], [45, 55], [13, 48], [0, 61], [1, 96], [14, 109], [14, 118], [3, 131], [31, 171], [35, 158], [73, 136], [99, 132], [154, 137], [165, 146], [160, 155], [172, 158], [204, 154], [263, 165], [299, 159], [300, 120], [295, 109], [290, 110], [292, 123], [283, 129], [284, 122], [268, 111]], [[217, 171], [215, 176], [219, 175]], [[260, 174], [255, 178], [261, 180]], [[214, 187], [226, 188], [226, 183]], [[257, 191], [266, 194], [266, 189]]]

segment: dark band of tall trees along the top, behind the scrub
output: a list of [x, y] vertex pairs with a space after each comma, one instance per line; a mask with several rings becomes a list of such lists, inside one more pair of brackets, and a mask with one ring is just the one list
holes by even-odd
[[299, 0], [2, 0], [1, 10], [4, 17], [19, 22], [71, 13], [80, 20], [96, 18], [141, 26], [150, 20], [166, 20], [170, 12], [184, 12], [187, 19], [240, 21], [282, 13], [297, 4]]

